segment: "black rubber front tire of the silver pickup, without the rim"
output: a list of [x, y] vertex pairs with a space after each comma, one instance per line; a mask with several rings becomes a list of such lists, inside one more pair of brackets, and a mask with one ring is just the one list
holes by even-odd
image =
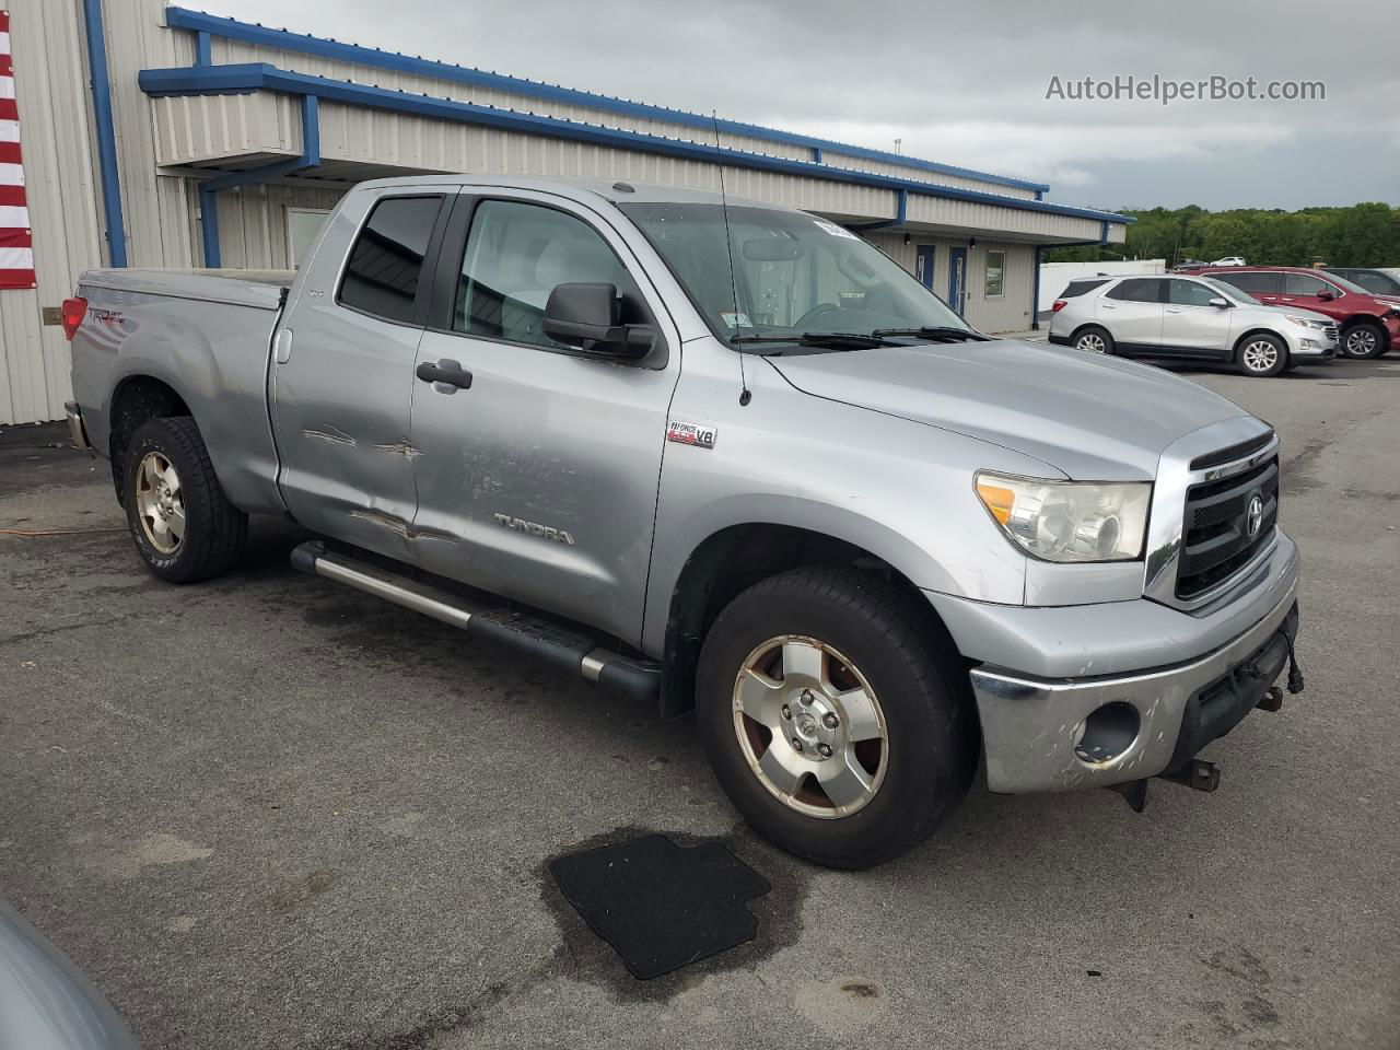
[[[734, 711], [741, 668], [784, 636], [837, 650], [878, 699], [882, 778], [844, 816], [791, 808], [760, 781], [741, 743]], [[928, 610], [874, 573], [798, 568], [735, 598], [701, 648], [696, 710], [720, 785], [749, 826], [833, 868], [868, 868], [911, 850], [958, 809], [977, 767], [980, 738], [962, 658]], [[804, 784], [816, 787], [815, 778]]]

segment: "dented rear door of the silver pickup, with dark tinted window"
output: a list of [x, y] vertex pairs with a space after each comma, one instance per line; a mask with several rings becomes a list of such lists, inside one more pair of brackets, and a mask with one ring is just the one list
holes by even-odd
[[398, 559], [410, 554], [417, 505], [409, 406], [427, 315], [420, 277], [447, 199], [403, 188], [350, 195], [273, 353], [288, 510], [309, 529]]

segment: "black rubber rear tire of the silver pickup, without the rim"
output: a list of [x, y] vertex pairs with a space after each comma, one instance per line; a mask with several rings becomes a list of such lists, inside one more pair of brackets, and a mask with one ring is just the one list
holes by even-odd
[[[141, 466], [150, 455], [164, 458], [179, 479], [183, 531], [168, 550], [157, 545], [154, 528], [143, 522], [139, 489], [146, 484]], [[157, 577], [193, 584], [221, 575], [238, 563], [248, 539], [248, 515], [224, 496], [193, 419], [171, 416], [137, 427], [126, 449], [122, 484], [132, 539]]]

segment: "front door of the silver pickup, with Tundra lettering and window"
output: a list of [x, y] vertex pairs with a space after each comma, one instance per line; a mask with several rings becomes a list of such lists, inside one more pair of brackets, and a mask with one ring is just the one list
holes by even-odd
[[669, 323], [659, 297], [601, 216], [547, 193], [463, 192], [441, 258], [419, 364], [470, 385], [414, 389], [416, 561], [636, 641], [679, 340], [623, 364], [542, 321], [557, 284], [615, 284], [631, 323]]

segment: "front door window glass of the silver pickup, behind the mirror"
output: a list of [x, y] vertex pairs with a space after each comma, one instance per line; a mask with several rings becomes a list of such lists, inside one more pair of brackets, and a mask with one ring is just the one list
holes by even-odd
[[[549, 350], [573, 350], [545, 335], [556, 284], [613, 284], [623, 321], [636, 301], [631, 279], [608, 242], [581, 218], [540, 204], [483, 200], [462, 256], [452, 328]], [[631, 318], [637, 321], [637, 318]]]

